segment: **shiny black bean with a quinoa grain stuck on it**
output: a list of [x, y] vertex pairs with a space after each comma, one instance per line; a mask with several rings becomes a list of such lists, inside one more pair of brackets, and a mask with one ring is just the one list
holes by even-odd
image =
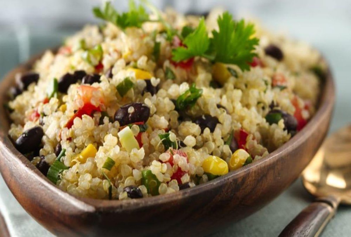
[[[130, 107], [134, 108], [132, 113], [128, 110]], [[120, 126], [133, 124], [137, 122], [146, 122], [150, 117], [150, 108], [143, 103], [131, 103], [120, 107], [114, 114], [115, 121], [119, 121]]]

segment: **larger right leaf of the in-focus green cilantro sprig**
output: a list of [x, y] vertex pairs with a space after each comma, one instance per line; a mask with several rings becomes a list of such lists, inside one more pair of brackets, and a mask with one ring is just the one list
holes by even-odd
[[229, 12], [218, 17], [219, 31], [213, 30], [211, 54], [214, 61], [225, 64], [236, 64], [241, 70], [250, 70], [256, 53], [253, 52], [259, 40], [252, 37], [255, 33], [253, 24], [245, 24], [244, 20], [236, 22]]

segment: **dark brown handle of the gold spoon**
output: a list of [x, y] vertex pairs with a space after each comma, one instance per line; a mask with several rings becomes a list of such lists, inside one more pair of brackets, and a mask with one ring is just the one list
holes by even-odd
[[340, 199], [334, 196], [316, 199], [284, 228], [279, 237], [319, 236], [329, 220], [335, 215], [339, 203]]

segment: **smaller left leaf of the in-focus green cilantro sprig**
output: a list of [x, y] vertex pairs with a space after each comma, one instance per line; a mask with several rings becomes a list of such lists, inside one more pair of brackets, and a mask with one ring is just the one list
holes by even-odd
[[173, 49], [172, 60], [179, 62], [205, 54], [210, 46], [210, 39], [208, 38], [204, 18], [200, 20], [198, 27], [185, 37], [183, 44], [187, 47]]

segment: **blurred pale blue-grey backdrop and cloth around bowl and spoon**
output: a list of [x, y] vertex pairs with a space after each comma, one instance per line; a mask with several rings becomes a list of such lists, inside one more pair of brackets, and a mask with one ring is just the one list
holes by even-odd
[[[222, 6], [235, 16], [251, 15], [276, 32], [310, 42], [330, 62], [337, 86], [337, 103], [331, 131], [350, 123], [351, 117], [351, 0], [154, 0], [160, 8], [204, 13]], [[30, 55], [60, 45], [64, 38], [86, 23], [98, 22], [92, 7], [101, 0], [0, 0], [0, 78]], [[127, 0], [115, 0], [123, 11]], [[6, 220], [15, 228], [28, 228], [33, 235], [48, 233], [29, 217], [0, 177], [0, 204], [6, 200]], [[216, 236], [277, 236], [311, 198], [300, 180], [253, 216], [216, 233]], [[1, 206], [0, 206], [1, 210]], [[2, 210], [4, 211], [4, 210]], [[351, 213], [341, 207], [324, 236], [347, 236]], [[11, 223], [10, 223], [11, 224]], [[20, 232], [16, 232], [20, 233]], [[21, 232], [24, 233], [24, 232]], [[28, 235], [23, 235], [27, 236]]]

